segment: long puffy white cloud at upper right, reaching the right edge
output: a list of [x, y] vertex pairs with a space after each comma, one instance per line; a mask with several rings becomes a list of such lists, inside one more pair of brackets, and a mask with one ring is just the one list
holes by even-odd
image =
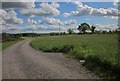
[[88, 5], [83, 5], [80, 2], [75, 2], [78, 11], [72, 11], [73, 16], [94, 15], [94, 16], [118, 16], [120, 12], [115, 8], [93, 8]]

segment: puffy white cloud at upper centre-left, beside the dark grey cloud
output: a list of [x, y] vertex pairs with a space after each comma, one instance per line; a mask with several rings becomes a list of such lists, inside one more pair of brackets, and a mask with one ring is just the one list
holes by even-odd
[[41, 3], [41, 8], [32, 8], [32, 9], [22, 9], [20, 10], [21, 14], [26, 16], [55, 16], [59, 15], [60, 11], [57, 9], [59, 4], [57, 3]]

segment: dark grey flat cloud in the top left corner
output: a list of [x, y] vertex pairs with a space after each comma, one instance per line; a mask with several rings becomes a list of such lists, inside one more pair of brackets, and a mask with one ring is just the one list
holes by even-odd
[[33, 8], [35, 0], [17, 0], [17, 2], [2, 2], [2, 8]]

